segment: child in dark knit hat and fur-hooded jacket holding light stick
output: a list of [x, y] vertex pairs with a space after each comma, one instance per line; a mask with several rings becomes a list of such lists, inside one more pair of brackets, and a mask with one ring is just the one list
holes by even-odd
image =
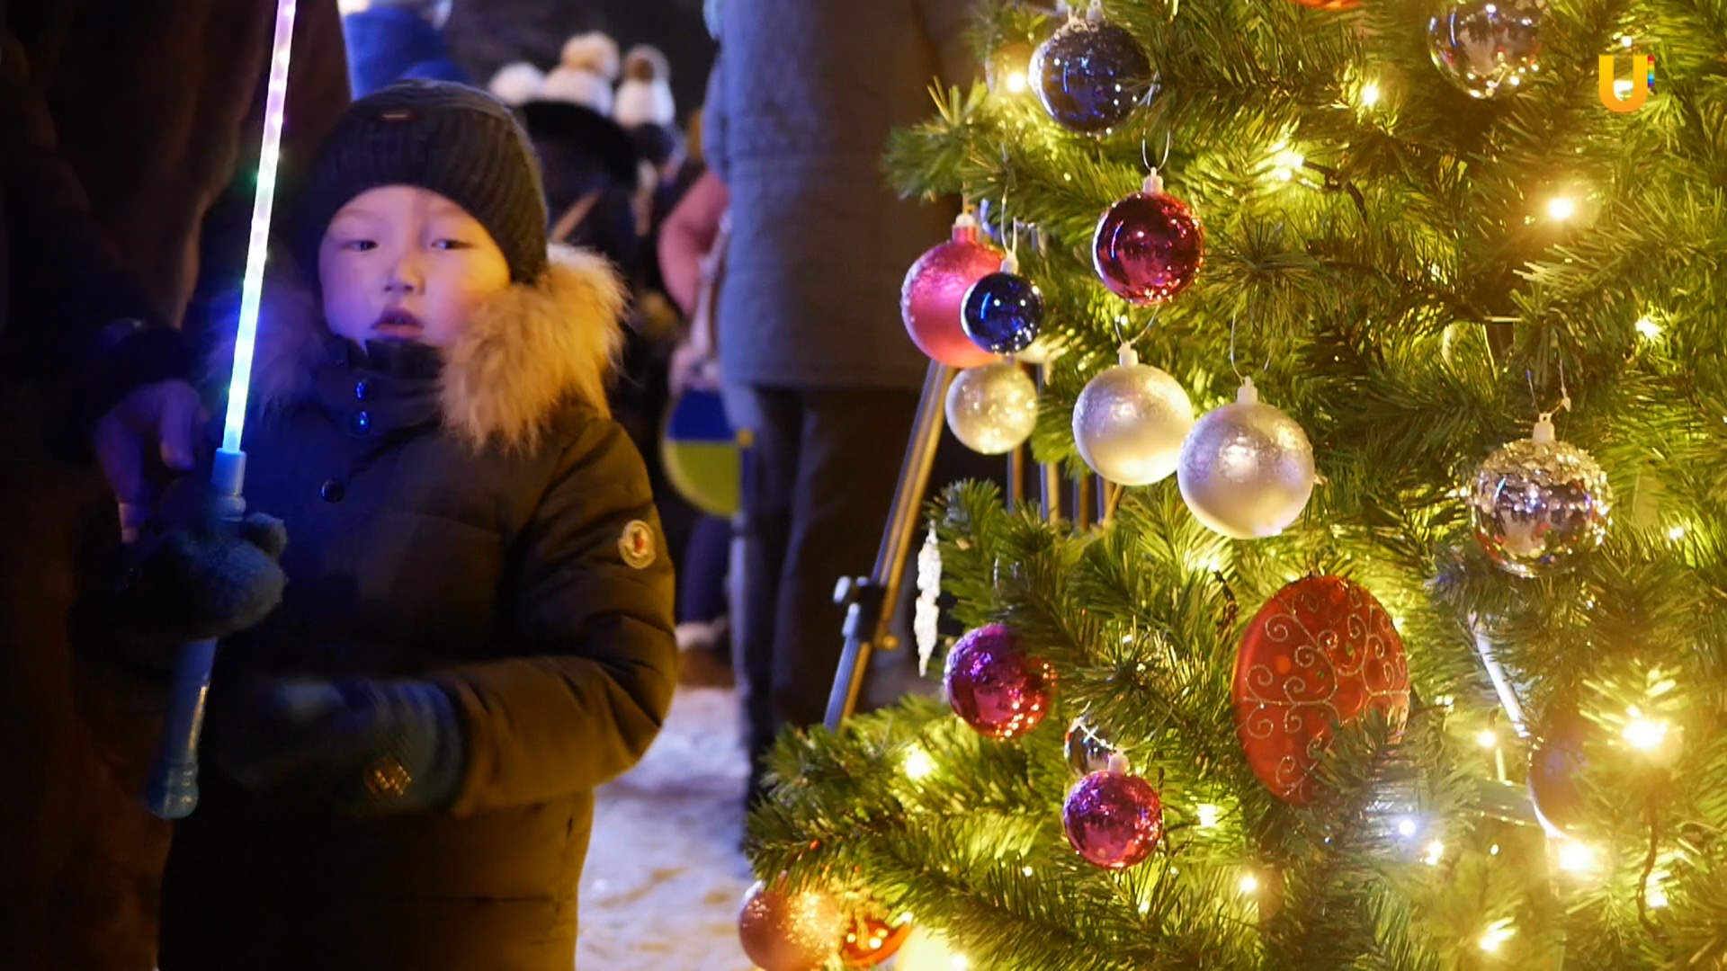
[[297, 226], [244, 444], [287, 587], [218, 650], [161, 969], [568, 971], [592, 788], [677, 663], [622, 289], [547, 252], [525, 135], [458, 85], [356, 102]]

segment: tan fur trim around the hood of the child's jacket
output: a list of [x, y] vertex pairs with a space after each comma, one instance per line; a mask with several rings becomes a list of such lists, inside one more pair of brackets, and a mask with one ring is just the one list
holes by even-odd
[[[444, 428], [475, 449], [494, 442], [532, 447], [563, 404], [610, 415], [606, 384], [623, 347], [623, 285], [604, 257], [553, 245], [551, 264], [535, 283], [511, 285], [485, 301], [444, 351]], [[266, 285], [249, 411], [269, 415], [309, 399], [313, 378], [328, 361], [328, 340], [311, 289]], [[231, 365], [230, 340], [211, 354], [209, 373], [225, 382]]]

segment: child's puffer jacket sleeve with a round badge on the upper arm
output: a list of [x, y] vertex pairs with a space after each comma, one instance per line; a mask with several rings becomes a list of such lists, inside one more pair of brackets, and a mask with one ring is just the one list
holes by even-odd
[[672, 707], [672, 563], [648, 472], [623, 428], [589, 423], [520, 543], [513, 634], [530, 657], [433, 676], [466, 731], [456, 816], [618, 776]]

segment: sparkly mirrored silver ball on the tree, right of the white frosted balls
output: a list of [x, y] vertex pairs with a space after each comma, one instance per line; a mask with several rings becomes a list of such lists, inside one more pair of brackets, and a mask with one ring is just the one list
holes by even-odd
[[1613, 487], [1584, 449], [1554, 437], [1551, 416], [1502, 446], [1475, 472], [1470, 520], [1501, 570], [1518, 577], [1563, 574], [1601, 546]]

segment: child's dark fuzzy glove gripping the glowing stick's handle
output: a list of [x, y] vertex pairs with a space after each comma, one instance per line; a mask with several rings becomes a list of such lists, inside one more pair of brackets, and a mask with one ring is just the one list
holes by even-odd
[[117, 591], [126, 658], [173, 667], [187, 641], [221, 639], [263, 620], [282, 603], [276, 563], [288, 544], [282, 520], [252, 513], [238, 529], [174, 529], [142, 546]]

